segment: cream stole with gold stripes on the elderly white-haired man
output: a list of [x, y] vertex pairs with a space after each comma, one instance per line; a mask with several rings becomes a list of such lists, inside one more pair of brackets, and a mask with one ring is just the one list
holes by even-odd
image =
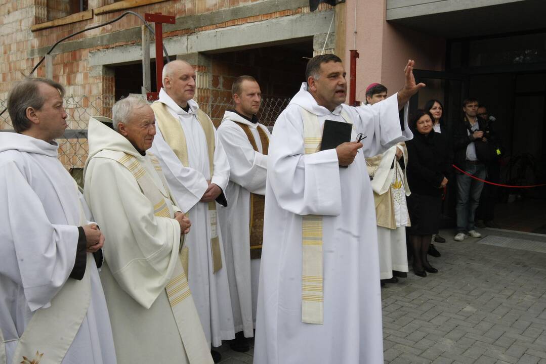
[[[147, 153], [150, 157], [150, 162], [156, 169], [157, 174], [159, 175], [159, 178], [161, 178], [161, 182], [167, 191], [166, 196], [162, 194], [159, 188], [157, 188], [156, 184], [146, 173], [146, 170], [140, 164], [138, 159], [127, 153], [123, 154], [123, 157], [117, 159], [117, 162], [125, 166], [131, 172], [133, 177], [135, 177], [135, 180], [143, 194], [153, 204], [154, 216], [173, 218], [170, 214], [170, 210], [165, 199], [168, 199], [171, 202], [174, 201], [171, 198], [167, 181], [163, 175], [161, 165], [159, 165], [159, 160], [153, 156], [152, 153]], [[181, 244], [182, 240], [183, 235], [181, 235]], [[180, 258], [182, 259], [182, 254], [180, 254]], [[180, 338], [182, 339], [182, 344], [186, 350], [189, 363], [212, 363], [210, 349], [207, 345], [205, 333], [203, 332], [203, 328], [199, 321], [199, 315], [197, 313], [197, 309], [195, 308], [195, 303], [191, 297], [192, 293], [189, 290], [188, 279], [184, 271], [185, 267], [182, 266], [181, 259], [176, 262], [173, 277], [170, 279], [169, 283], [165, 285], [165, 291], [167, 292], [171, 310], [173, 311], [176, 326], [178, 327]], [[197, 328], [201, 330], [196, 330]]]

